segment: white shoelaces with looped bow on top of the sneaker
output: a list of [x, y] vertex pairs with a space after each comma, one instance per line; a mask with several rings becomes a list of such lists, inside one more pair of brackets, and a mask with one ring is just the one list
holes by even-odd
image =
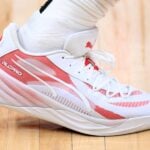
[[[83, 57], [83, 56], [82, 56]], [[86, 57], [90, 58], [91, 60], [96, 60], [98, 62], [105, 62], [109, 66], [114, 66], [115, 64], [115, 58], [112, 54], [100, 51], [100, 50], [93, 50], [86, 53], [86, 55], [83, 57], [83, 61], [85, 61]], [[77, 59], [80, 58], [79, 56], [68, 56], [69, 59]], [[67, 59], [66, 58], [66, 59]], [[94, 64], [95, 65], [95, 64]], [[108, 76], [107, 72], [104, 71], [104, 69], [101, 67], [100, 70], [95, 70], [92, 63], [89, 63], [87, 66], [84, 65], [81, 66], [82, 71], [88, 71], [88, 78], [95, 77], [95, 82], [93, 84], [93, 90], [95, 92], [103, 89], [105, 87], [106, 89], [106, 96], [108, 98], [114, 97], [116, 94], [120, 94], [121, 97], [125, 98], [131, 95], [131, 87], [127, 85], [120, 84], [115, 78]], [[90, 68], [90, 69], [89, 69]], [[111, 91], [110, 87], [114, 86], [116, 91]]]

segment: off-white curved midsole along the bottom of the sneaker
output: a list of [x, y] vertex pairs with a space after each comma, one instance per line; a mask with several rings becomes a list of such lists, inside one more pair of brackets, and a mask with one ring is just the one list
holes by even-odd
[[30, 114], [77, 132], [94, 136], [122, 135], [150, 128], [150, 116], [126, 119], [118, 126], [104, 126], [65, 110], [39, 107], [12, 107], [6, 105], [4, 107]]

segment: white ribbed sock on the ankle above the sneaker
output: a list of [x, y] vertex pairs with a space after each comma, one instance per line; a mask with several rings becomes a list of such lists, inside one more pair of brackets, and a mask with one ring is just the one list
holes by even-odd
[[20, 28], [20, 42], [30, 52], [61, 49], [69, 35], [95, 27], [116, 1], [53, 0]]

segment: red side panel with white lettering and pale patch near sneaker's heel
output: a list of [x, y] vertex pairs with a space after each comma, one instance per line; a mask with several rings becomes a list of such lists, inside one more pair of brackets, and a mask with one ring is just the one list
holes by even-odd
[[[25, 84], [36, 83], [39, 85], [43, 85], [43, 83], [38, 80], [39, 78], [40, 80], [43, 80], [43, 82], [46, 82], [47, 84], [52, 85], [53, 83], [57, 86], [59, 85], [58, 86], [59, 88], [67, 90], [73, 95], [79, 97], [71, 88], [68, 88], [64, 84], [59, 83], [58, 81], [54, 80], [48, 75], [36, 70], [34, 67], [23, 63], [22, 61], [18, 60], [16, 56], [19, 56], [21, 59], [27, 61], [28, 63], [41, 69], [42, 71], [55, 76], [56, 78], [62, 80], [64, 83], [74, 86], [69, 75], [63, 70], [61, 70], [59, 67], [57, 67], [55, 64], [53, 64], [47, 57], [26, 55], [19, 50], [11, 52], [0, 58], [0, 68], [4, 70], [6, 73], [8, 73], [10, 76], [14, 77], [15, 79]], [[14, 62], [17, 62], [20, 66], [22, 66], [23, 68], [34, 74], [34, 76], [32, 76], [29, 72], [26, 72], [24, 69], [20, 68]]]

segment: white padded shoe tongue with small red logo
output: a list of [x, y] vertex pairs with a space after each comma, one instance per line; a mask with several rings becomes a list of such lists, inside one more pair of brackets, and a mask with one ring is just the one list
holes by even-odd
[[74, 56], [83, 56], [93, 48], [97, 35], [96, 28], [73, 34], [66, 40], [64, 49]]

